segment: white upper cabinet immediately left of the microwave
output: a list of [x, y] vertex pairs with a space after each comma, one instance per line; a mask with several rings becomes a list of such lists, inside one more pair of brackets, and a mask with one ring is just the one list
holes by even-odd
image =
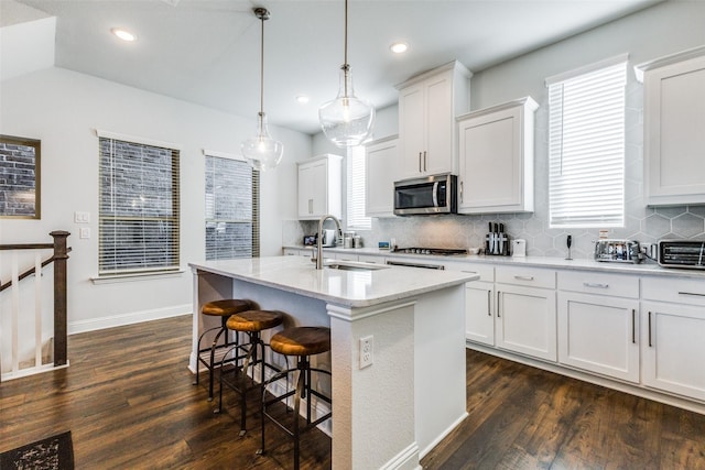
[[365, 149], [365, 215], [394, 217], [394, 182], [397, 181], [399, 139], [380, 139]]

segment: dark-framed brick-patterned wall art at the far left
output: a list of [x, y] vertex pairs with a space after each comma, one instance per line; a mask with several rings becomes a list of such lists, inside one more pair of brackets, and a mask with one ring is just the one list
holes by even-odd
[[41, 141], [0, 134], [0, 218], [40, 219]]

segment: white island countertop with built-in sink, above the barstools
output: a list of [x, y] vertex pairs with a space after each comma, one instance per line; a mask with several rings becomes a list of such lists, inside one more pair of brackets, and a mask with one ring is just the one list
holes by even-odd
[[328, 267], [316, 270], [314, 263], [304, 256], [204, 261], [188, 263], [188, 265], [195, 270], [347, 307], [368, 307], [414, 297], [479, 277], [477, 274], [459, 271], [419, 270], [405, 266], [383, 266], [373, 271], [341, 271]]

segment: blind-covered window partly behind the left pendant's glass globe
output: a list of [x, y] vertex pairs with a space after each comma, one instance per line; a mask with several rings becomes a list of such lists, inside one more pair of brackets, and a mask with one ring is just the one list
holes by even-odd
[[259, 256], [259, 172], [239, 159], [205, 154], [206, 260]]

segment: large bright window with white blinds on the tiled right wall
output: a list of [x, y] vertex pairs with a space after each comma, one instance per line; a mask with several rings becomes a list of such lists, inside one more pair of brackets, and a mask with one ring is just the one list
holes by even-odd
[[626, 80], [626, 56], [546, 80], [550, 227], [623, 227]]

